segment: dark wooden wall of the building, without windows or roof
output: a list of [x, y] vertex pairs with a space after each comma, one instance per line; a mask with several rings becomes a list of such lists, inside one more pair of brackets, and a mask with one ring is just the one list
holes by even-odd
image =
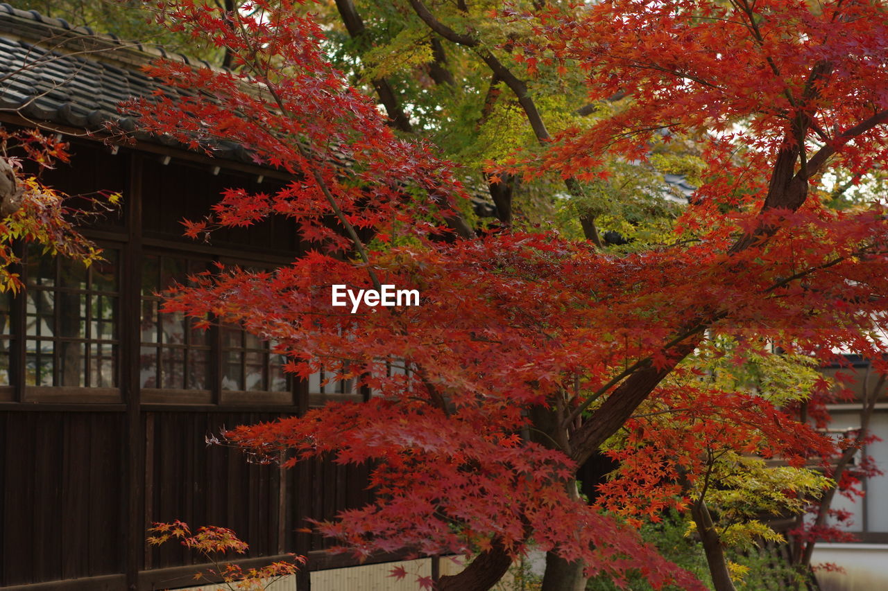
[[[230, 527], [250, 544], [253, 558], [295, 552], [312, 556], [315, 569], [347, 564], [321, 556], [325, 540], [297, 529], [305, 527], [305, 517], [331, 518], [368, 502], [367, 469], [316, 461], [281, 472], [276, 465], [248, 462], [239, 450], [206, 443], [225, 428], [305, 412], [305, 384], [294, 383], [292, 397], [274, 398], [274, 405], [262, 393], [220, 396], [218, 380], [200, 404], [187, 404], [177, 391], [148, 398], [139, 386], [142, 257], [160, 248], [281, 262], [293, 255], [297, 240], [280, 220], [220, 234], [211, 245], [181, 238], [178, 220], [205, 213], [226, 187], [252, 183], [251, 189], [270, 190], [282, 181], [259, 186], [255, 172], [245, 170], [214, 176], [210, 165], [189, 161], [187, 154], [163, 164], [163, 154], [111, 154], [88, 141], [74, 151], [73, 164], [52, 171], [47, 183], [69, 193], [123, 191], [122, 215], [87, 230], [99, 243], [114, 243], [123, 262], [119, 384], [111, 392], [41, 390], [23, 385], [20, 377], [19, 383], [0, 384], [0, 587], [184, 587], [195, 556], [175, 543], [147, 548], [145, 542], [147, 524], [174, 519]], [[13, 335], [12, 343], [24, 351], [15, 344], [19, 338]], [[18, 363], [15, 370], [13, 360], [12, 374], [22, 376]]]

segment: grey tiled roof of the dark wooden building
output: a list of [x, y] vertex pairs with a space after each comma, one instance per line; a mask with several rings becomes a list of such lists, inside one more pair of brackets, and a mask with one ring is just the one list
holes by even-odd
[[[98, 130], [108, 121], [132, 130], [134, 122], [121, 116], [117, 105], [161, 88], [139, 69], [160, 57], [210, 67], [160, 48], [124, 43], [114, 35], [99, 35], [91, 28], [74, 28], [65, 20], [0, 4], [0, 111], [83, 130]], [[182, 92], [169, 87], [164, 91]], [[170, 138], [145, 139], [178, 146]], [[247, 151], [233, 142], [218, 143], [214, 155], [251, 162]]]

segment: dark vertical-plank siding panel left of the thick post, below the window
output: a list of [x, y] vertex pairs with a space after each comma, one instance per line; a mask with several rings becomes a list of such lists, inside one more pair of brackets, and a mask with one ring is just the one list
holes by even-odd
[[[100, 413], [4, 414], [0, 585], [122, 570], [115, 540], [121, 466], [119, 446], [111, 445], [121, 436], [118, 419]], [[99, 499], [91, 501], [93, 494]]]

